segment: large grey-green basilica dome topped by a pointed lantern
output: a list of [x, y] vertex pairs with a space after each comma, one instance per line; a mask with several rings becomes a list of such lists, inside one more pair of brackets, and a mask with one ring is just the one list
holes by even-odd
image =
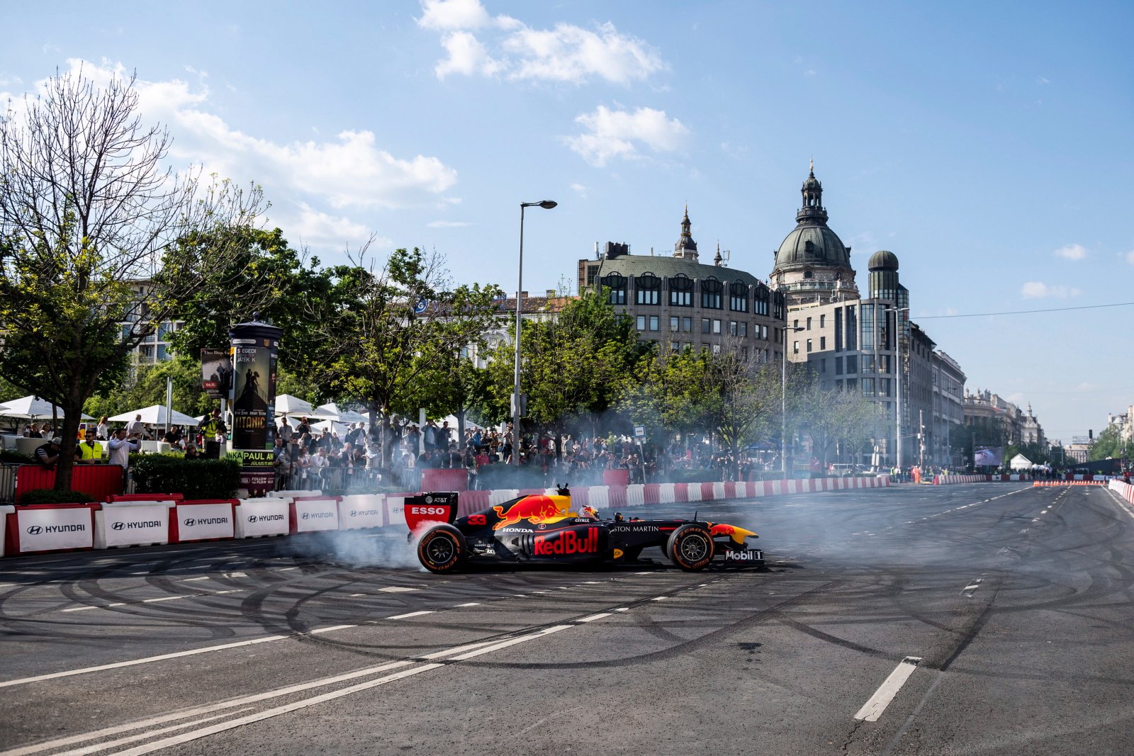
[[814, 163], [801, 193], [803, 205], [795, 214], [795, 228], [775, 253], [772, 286], [784, 292], [789, 307], [857, 297], [850, 247], [827, 226], [823, 185], [815, 178]]

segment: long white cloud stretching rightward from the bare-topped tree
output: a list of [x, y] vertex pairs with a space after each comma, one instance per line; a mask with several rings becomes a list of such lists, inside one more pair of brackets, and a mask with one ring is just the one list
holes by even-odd
[[[82, 66], [98, 83], [126, 74], [120, 63], [68, 63], [71, 71]], [[457, 172], [438, 158], [398, 158], [382, 150], [372, 131], [345, 129], [333, 139], [285, 144], [245, 134], [209, 112], [205, 86], [179, 79], [138, 79], [135, 86], [144, 120], [167, 124], [175, 136], [170, 158], [200, 163], [206, 173], [237, 182], [254, 180], [276, 202], [404, 207], [435, 202], [457, 180]], [[346, 228], [342, 221], [339, 228]], [[308, 222], [314, 224], [314, 219]], [[327, 228], [325, 222], [315, 226]]]

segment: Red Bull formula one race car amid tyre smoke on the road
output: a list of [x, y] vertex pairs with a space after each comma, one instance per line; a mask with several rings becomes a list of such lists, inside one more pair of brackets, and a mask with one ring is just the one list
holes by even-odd
[[703, 520], [600, 519], [583, 507], [574, 511], [570, 492], [532, 494], [457, 517], [456, 493], [406, 499], [406, 524], [417, 536], [417, 558], [432, 572], [451, 572], [469, 560], [505, 562], [634, 562], [643, 549], [660, 546], [674, 564], [702, 570], [716, 554], [726, 563], [763, 567], [762, 551], [745, 538], [759, 537], [734, 525]]

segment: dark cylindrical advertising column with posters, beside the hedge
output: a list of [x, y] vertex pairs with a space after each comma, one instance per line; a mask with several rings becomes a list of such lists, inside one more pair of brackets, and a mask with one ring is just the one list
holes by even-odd
[[272, 490], [276, 426], [276, 358], [282, 329], [253, 321], [229, 331], [232, 340], [232, 451], [240, 459], [240, 486], [251, 495]]

